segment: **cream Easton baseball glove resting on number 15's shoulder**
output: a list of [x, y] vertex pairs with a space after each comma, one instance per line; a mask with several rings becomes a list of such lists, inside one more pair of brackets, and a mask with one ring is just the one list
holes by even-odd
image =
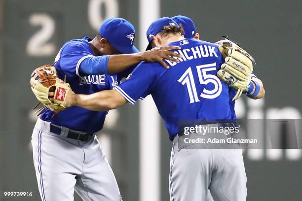
[[230, 87], [237, 90], [236, 95], [232, 99], [236, 100], [241, 96], [242, 92], [249, 89], [253, 65], [256, 65], [255, 60], [237, 43], [229, 40], [228, 37], [215, 44], [219, 44], [219, 51], [225, 59], [225, 63], [217, 72], [217, 76]]

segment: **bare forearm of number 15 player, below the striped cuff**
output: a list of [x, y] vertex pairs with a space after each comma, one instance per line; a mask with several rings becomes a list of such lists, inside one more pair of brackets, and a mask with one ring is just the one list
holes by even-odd
[[105, 90], [90, 95], [74, 94], [67, 96], [66, 107], [78, 106], [94, 111], [107, 111], [124, 105], [127, 100], [116, 90]]

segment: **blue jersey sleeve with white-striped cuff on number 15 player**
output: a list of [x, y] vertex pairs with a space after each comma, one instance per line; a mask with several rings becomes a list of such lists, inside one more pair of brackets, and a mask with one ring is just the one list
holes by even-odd
[[[158, 67], [153, 67], [158, 65]], [[134, 104], [139, 98], [145, 98], [151, 94], [152, 89], [160, 77], [159, 70], [164, 69], [158, 63], [141, 63], [129, 75], [128, 79], [116, 86], [114, 89], [119, 92], [129, 103]]]

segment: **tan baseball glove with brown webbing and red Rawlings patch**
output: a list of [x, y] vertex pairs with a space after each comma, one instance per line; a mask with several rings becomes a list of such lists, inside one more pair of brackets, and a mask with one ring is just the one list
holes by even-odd
[[[31, 75], [31, 88], [39, 101], [38, 104], [41, 102], [44, 105], [38, 110], [40, 111], [38, 115], [46, 108], [54, 111], [54, 115], [66, 108], [65, 98], [71, 88], [68, 83], [58, 78], [54, 65], [43, 65], [36, 68]], [[53, 101], [49, 100], [49, 92], [55, 92]]]

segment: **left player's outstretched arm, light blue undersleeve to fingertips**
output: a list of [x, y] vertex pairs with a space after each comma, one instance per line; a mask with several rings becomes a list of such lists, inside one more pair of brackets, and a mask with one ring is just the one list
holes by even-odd
[[113, 74], [121, 72], [128, 67], [138, 64], [142, 61], [159, 62], [162, 66], [169, 68], [163, 59], [178, 62], [181, 55], [169, 50], [181, 49], [178, 46], [156, 47], [145, 52], [124, 55], [104, 55], [98, 57], [87, 57], [79, 64], [79, 73], [90, 74]]

